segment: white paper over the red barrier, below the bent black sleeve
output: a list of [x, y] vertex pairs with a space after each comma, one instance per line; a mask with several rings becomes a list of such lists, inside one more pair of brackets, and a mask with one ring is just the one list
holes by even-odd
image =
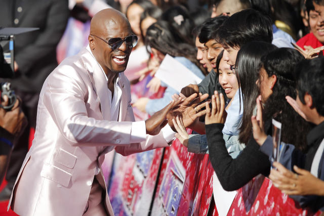
[[218, 215], [227, 215], [237, 192], [225, 191], [215, 172], [213, 176], [213, 193]]

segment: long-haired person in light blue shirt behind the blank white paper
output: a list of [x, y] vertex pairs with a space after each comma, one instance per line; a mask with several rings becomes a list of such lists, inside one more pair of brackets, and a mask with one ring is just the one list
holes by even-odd
[[[205, 77], [197, 67], [199, 63], [195, 57], [194, 47], [183, 41], [175, 32], [172, 32], [166, 21], [159, 20], [147, 29], [145, 43], [159, 62], [162, 62], [165, 56], [169, 54], [201, 79]], [[140, 98], [133, 106], [141, 111], [146, 111], [148, 114], [153, 114], [161, 106], [168, 104], [172, 100], [172, 95], [177, 93], [173, 88], [167, 87], [163, 98], [152, 100]]]

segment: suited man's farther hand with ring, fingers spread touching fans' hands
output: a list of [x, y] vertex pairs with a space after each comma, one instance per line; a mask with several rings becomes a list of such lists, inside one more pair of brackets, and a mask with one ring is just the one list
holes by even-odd
[[170, 112], [167, 114], [168, 123], [171, 128], [176, 131], [172, 119], [176, 116], [180, 116], [183, 121], [184, 127], [190, 126], [196, 118], [203, 116], [206, 114], [206, 110], [200, 111], [201, 108], [205, 107], [205, 103], [200, 104], [204, 100], [208, 98], [208, 94], [197, 97], [197, 93], [190, 95], [189, 97], [185, 97], [180, 93], [181, 103], [178, 106], [175, 106]]

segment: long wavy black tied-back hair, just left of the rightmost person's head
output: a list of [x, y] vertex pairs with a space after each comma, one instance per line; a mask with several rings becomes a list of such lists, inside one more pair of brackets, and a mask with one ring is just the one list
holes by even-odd
[[264, 105], [264, 119], [274, 118], [281, 122], [281, 141], [294, 144], [300, 150], [306, 149], [306, 134], [309, 123], [305, 121], [286, 101], [286, 96], [296, 98], [296, 78], [294, 72], [304, 57], [291, 48], [279, 48], [262, 57], [260, 68], [268, 76], [275, 75], [276, 82], [272, 94]]

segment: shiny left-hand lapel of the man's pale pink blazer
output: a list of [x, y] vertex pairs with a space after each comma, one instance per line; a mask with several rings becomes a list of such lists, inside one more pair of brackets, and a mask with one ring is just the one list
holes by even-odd
[[108, 94], [106, 77], [96, 59], [86, 48], [80, 55], [83, 57], [93, 88], [98, 95], [102, 118], [110, 120], [111, 97]]

